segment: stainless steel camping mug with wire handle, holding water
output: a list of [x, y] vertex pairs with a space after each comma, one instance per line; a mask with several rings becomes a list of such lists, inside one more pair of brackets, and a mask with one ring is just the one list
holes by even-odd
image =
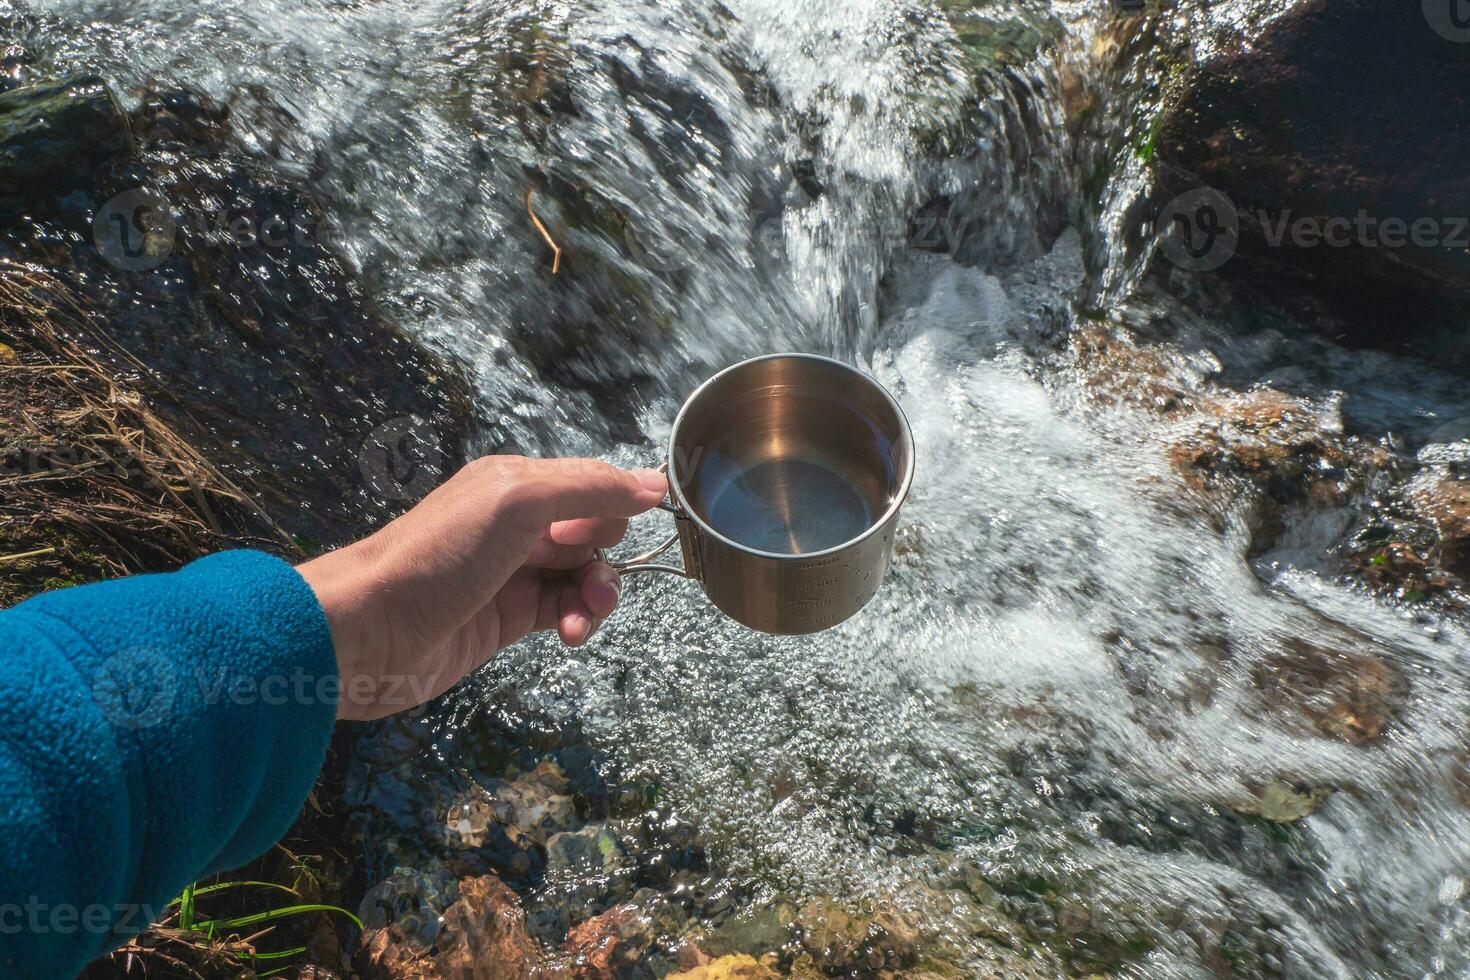
[[[770, 354], [689, 395], [666, 467], [675, 533], [613, 567], [695, 579], [751, 629], [814, 633], [882, 585], [914, 448], [898, 403], [863, 372]], [[654, 561], [676, 542], [682, 569]]]

